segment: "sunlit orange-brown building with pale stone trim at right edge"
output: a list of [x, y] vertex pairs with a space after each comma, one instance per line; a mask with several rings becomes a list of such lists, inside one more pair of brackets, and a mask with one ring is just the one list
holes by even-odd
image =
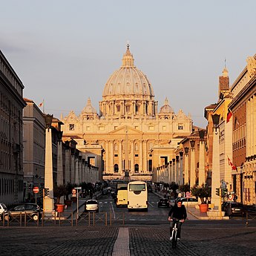
[[237, 200], [256, 203], [256, 55], [248, 57], [246, 68], [232, 85], [233, 157], [237, 170], [232, 171]]

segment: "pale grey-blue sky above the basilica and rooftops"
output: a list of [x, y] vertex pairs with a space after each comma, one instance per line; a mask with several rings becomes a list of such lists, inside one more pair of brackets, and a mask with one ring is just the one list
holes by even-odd
[[129, 42], [134, 63], [175, 113], [206, 127], [225, 66], [230, 84], [256, 53], [255, 0], [1, 1], [0, 49], [45, 112], [99, 111], [108, 77]]

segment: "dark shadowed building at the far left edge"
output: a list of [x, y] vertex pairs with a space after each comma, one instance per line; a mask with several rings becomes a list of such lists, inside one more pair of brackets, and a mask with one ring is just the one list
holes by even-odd
[[23, 200], [24, 85], [0, 50], [0, 201]]

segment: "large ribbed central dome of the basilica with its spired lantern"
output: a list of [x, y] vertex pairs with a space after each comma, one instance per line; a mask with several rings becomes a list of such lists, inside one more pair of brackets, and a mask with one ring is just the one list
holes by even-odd
[[122, 66], [109, 77], [102, 93], [103, 100], [127, 99], [153, 99], [154, 91], [147, 76], [134, 66], [134, 57], [127, 50], [122, 58]]

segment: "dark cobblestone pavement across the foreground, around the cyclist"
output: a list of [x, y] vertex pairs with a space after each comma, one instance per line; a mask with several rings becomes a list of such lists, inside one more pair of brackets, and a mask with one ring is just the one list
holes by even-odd
[[[119, 229], [125, 237], [119, 237]], [[11, 227], [0, 229], [1, 255], [255, 255], [256, 228], [190, 221], [171, 249], [168, 225], [131, 227]], [[126, 240], [126, 242], [125, 242]], [[122, 248], [122, 244], [125, 247]], [[115, 248], [115, 249], [114, 249]], [[129, 250], [129, 249], [130, 250]]]

